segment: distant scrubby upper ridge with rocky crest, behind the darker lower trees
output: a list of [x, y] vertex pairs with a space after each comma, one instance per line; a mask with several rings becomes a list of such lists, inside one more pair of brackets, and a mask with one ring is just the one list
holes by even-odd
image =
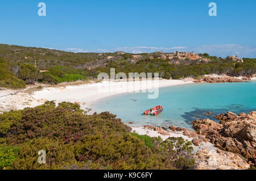
[[[0, 44], [0, 58], [11, 62], [22, 62], [34, 64], [38, 69], [47, 69], [51, 66], [71, 66], [76, 69], [93, 69], [96, 67], [102, 67], [109, 64], [109, 62], [125, 61], [135, 64], [136, 62], [149, 58], [153, 60], [155, 58], [161, 60], [167, 60], [169, 64], [205, 64], [213, 60], [223, 58], [210, 57], [209, 54], [196, 54], [194, 52], [153, 52], [153, 53], [73, 53], [64, 52], [61, 50], [47, 49], [47, 48], [35, 48], [35, 47], [21, 47], [16, 45]], [[232, 60], [237, 62], [243, 62], [241, 58], [236, 56], [229, 56], [224, 58], [225, 60]]]

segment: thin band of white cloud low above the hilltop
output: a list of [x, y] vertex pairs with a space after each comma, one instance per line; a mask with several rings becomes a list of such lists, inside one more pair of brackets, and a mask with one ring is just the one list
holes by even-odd
[[80, 48], [67, 48], [66, 50], [72, 52], [117, 52], [123, 51], [127, 53], [152, 53], [156, 51], [163, 52], [195, 52], [195, 53], [208, 53], [211, 56], [227, 57], [229, 55], [236, 55], [238, 57], [256, 57], [256, 47], [250, 47], [238, 44], [219, 44], [219, 45], [202, 45], [197, 47], [117, 47], [112, 49], [95, 49], [95, 50], [84, 50]]

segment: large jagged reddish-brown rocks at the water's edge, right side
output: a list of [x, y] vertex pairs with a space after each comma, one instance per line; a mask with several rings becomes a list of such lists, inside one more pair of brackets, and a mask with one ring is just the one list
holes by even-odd
[[219, 115], [222, 124], [209, 119], [195, 120], [193, 128], [198, 134], [205, 135], [218, 148], [239, 153], [255, 164], [256, 155], [256, 111], [240, 115], [227, 112]]

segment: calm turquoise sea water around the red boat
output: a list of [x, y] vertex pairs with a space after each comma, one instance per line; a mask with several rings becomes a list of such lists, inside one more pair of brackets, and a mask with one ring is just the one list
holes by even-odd
[[[127, 93], [98, 100], [93, 105], [97, 112], [109, 111], [123, 122], [135, 125], [158, 125], [191, 128], [195, 119], [214, 119], [214, 115], [232, 111], [256, 111], [256, 81], [240, 83], [198, 83], [163, 87], [158, 99], [148, 99], [146, 93]], [[161, 105], [162, 113], [145, 116], [143, 111]], [[208, 111], [212, 114], [208, 114]], [[217, 120], [216, 120], [217, 121]]]

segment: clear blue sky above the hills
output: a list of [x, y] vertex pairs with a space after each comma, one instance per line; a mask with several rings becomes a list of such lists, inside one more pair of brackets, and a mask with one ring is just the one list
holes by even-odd
[[[47, 16], [38, 16], [38, 3]], [[209, 3], [217, 16], [209, 16]], [[162, 50], [256, 57], [254, 0], [9, 0], [0, 43], [73, 52]]]

